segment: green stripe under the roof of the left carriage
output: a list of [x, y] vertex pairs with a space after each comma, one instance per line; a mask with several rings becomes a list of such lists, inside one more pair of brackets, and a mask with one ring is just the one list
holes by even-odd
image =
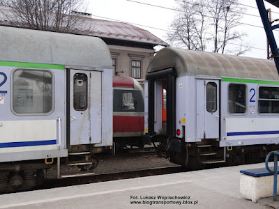
[[0, 61], [0, 66], [17, 67], [17, 68], [43, 68], [43, 69], [56, 69], [64, 70], [65, 65], [43, 64], [43, 63], [22, 63], [11, 61]]

